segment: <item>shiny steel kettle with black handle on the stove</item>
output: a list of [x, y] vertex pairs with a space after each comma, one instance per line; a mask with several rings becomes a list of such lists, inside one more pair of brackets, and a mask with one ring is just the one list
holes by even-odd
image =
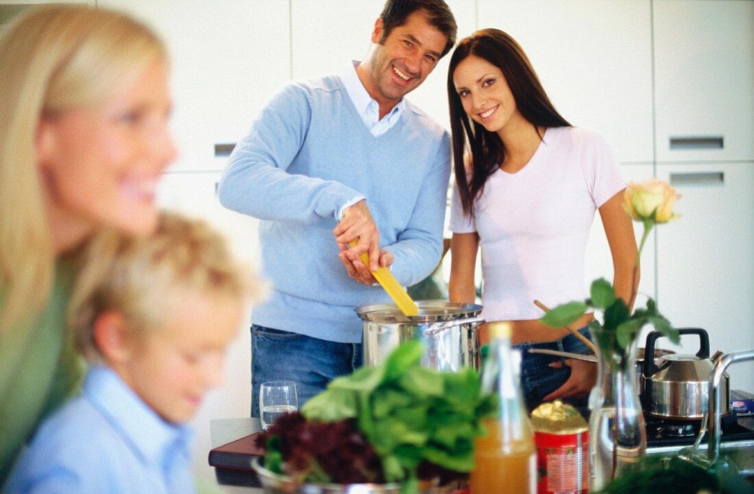
[[[694, 355], [670, 354], [661, 357], [657, 364], [654, 359], [654, 345], [662, 333], [648, 334], [642, 370], [644, 391], [642, 401], [645, 411], [652, 416], [665, 419], [701, 419], [708, 412], [710, 401], [710, 376], [715, 363], [710, 358], [710, 337], [701, 328], [679, 330], [681, 335], [699, 336], [699, 351]], [[730, 389], [728, 378], [722, 382], [720, 390], [727, 397], [723, 405], [723, 415], [730, 413]]]

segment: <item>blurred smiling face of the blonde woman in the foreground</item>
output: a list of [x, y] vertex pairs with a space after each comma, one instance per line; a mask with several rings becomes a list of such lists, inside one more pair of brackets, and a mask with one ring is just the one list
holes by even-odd
[[44, 116], [38, 166], [52, 217], [83, 230], [151, 231], [158, 179], [176, 157], [170, 107], [167, 66], [155, 61], [102, 105]]

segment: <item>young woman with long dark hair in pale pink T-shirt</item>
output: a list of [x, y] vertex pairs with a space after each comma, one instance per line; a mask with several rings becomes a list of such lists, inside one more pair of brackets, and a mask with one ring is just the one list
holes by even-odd
[[[459, 42], [448, 96], [455, 160], [450, 299], [474, 301], [481, 246], [483, 315], [512, 321], [527, 402], [583, 397], [596, 379], [595, 365], [563, 363], [529, 348], [589, 349], [567, 330], [541, 324], [543, 312], [533, 302], [554, 307], [587, 298], [584, 255], [596, 210], [615, 290], [630, 299], [636, 240], [621, 209], [618, 163], [599, 134], [559, 115], [523, 49], [498, 29]], [[573, 327], [587, 335], [592, 318], [584, 315]]]

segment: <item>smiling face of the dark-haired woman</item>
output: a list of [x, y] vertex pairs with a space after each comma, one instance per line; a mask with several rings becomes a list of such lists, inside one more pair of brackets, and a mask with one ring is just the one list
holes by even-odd
[[470, 55], [455, 68], [453, 84], [464, 112], [490, 132], [523, 119], [503, 72], [483, 58]]

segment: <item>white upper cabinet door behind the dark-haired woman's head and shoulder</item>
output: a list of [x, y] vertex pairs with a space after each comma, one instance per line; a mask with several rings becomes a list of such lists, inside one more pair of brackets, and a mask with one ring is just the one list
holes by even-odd
[[605, 135], [621, 162], [654, 161], [649, 0], [479, 0], [479, 27], [519, 41], [550, 100]]

